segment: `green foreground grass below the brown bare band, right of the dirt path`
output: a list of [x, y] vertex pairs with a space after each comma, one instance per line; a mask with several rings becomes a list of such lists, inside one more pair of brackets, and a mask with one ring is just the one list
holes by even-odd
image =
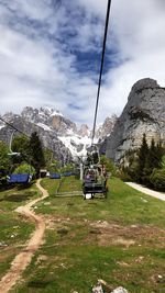
[[[50, 253], [50, 249], [42, 250], [41, 253], [43, 252], [51, 261], [41, 261], [36, 268], [36, 255], [26, 270], [26, 284], [21, 285], [16, 292], [85, 293], [91, 292], [91, 286], [98, 279], [106, 280], [112, 289], [123, 285], [129, 292], [163, 290], [164, 284], [158, 282], [157, 278], [164, 269], [162, 259], [155, 258], [150, 250], [140, 251], [134, 248], [124, 251], [120, 247], [101, 249], [98, 246], [66, 246], [54, 248], [54, 253]], [[140, 252], [144, 257], [143, 263], [136, 263]], [[120, 263], [127, 263], [128, 267], [122, 267]], [[153, 278], [155, 281], [152, 281]]]

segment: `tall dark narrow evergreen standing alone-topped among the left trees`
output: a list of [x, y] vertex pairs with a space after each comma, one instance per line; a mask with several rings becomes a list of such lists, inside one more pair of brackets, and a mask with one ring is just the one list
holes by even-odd
[[31, 134], [30, 138], [31, 165], [35, 168], [36, 176], [40, 174], [40, 169], [45, 166], [44, 151], [42, 143], [36, 132]]

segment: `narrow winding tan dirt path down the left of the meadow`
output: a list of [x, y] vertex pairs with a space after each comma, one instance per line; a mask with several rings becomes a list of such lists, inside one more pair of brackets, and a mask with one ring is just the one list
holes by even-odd
[[37, 203], [38, 201], [44, 200], [48, 196], [46, 190], [44, 190], [40, 184], [41, 179], [37, 180], [36, 187], [42, 191], [43, 196], [36, 199], [24, 206], [18, 207], [15, 211], [31, 221], [35, 222], [35, 232], [33, 233], [31, 239], [29, 240], [25, 249], [21, 251], [12, 261], [11, 268], [8, 273], [0, 281], [0, 293], [8, 292], [20, 279], [22, 272], [25, 270], [28, 264], [31, 262], [34, 252], [38, 249], [42, 244], [44, 232], [45, 232], [45, 222], [42, 216], [35, 215], [30, 209], [32, 205]]

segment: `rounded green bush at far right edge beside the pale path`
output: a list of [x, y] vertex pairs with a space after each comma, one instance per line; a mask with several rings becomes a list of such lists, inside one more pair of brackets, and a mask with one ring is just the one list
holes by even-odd
[[156, 190], [165, 191], [165, 170], [155, 169], [150, 177], [150, 181]]

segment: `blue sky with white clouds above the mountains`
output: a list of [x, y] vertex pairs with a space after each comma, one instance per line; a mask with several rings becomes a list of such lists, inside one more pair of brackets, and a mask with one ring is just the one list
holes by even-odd
[[[0, 114], [51, 106], [92, 124], [107, 0], [0, 0]], [[97, 122], [142, 78], [165, 87], [165, 1], [112, 0]]]

